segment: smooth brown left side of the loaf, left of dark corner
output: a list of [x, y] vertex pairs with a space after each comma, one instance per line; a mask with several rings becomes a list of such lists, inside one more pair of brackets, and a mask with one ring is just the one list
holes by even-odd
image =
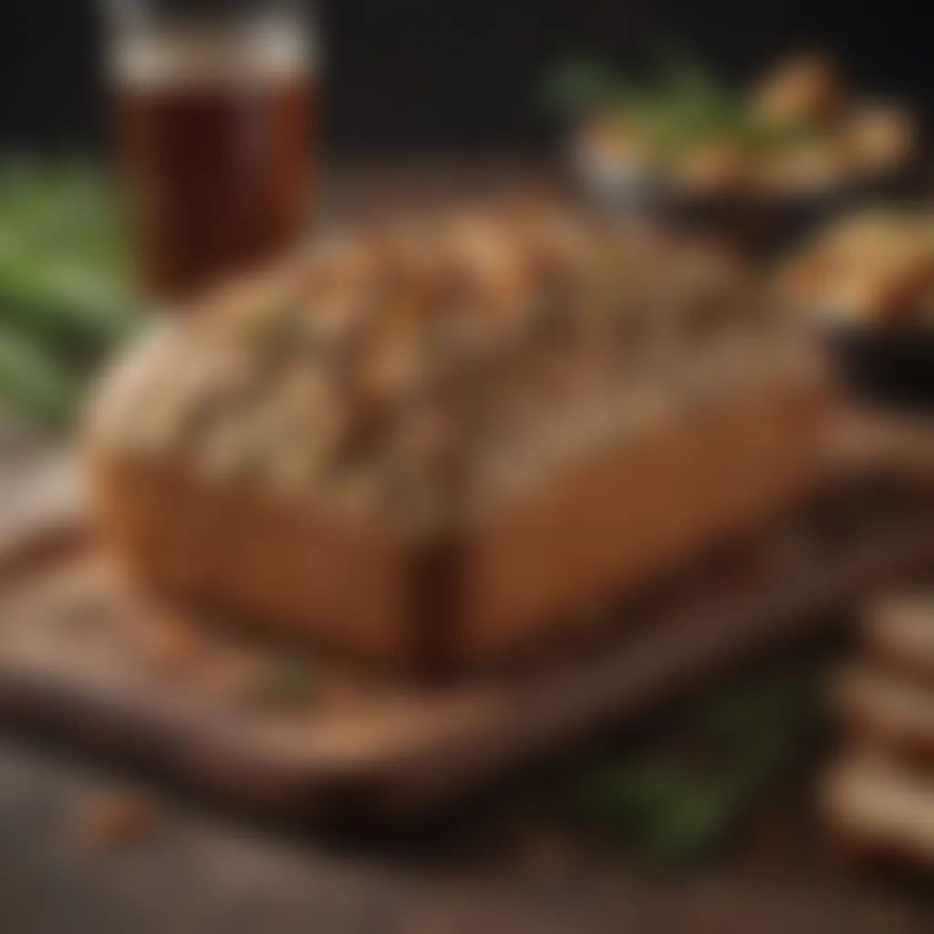
[[92, 454], [98, 533], [155, 591], [403, 663], [418, 551], [376, 524], [184, 464]]

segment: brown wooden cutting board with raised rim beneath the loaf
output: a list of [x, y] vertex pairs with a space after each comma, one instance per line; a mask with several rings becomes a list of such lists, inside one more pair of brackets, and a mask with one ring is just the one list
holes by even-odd
[[[192, 622], [134, 592], [92, 542], [63, 537], [73, 523], [38, 510], [43, 522], [18, 532], [30, 559], [7, 545], [0, 561], [0, 722], [252, 811], [411, 820], [926, 568], [927, 473], [919, 483], [879, 450], [782, 523], [607, 608], [587, 644], [444, 685], [394, 684], [257, 643], [229, 621]], [[39, 547], [50, 532], [57, 546]]]

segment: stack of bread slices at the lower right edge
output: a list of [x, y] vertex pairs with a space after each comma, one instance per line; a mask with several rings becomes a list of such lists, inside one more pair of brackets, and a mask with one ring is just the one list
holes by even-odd
[[856, 853], [934, 871], [934, 595], [877, 602], [864, 635], [865, 660], [835, 684], [849, 750], [823, 805]]

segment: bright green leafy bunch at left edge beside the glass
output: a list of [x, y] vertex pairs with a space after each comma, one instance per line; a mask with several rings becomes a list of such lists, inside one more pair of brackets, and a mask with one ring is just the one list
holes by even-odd
[[62, 424], [136, 323], [115, 198], [89, 163], [0, 157], [0, 406]]

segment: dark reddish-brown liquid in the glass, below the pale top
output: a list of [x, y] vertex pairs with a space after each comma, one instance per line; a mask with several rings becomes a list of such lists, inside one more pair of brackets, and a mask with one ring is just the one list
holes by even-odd
[[129, 207], [144, 290], [196, 294], [301, 236], [310, 206], [311, 81], [120, 91]]

